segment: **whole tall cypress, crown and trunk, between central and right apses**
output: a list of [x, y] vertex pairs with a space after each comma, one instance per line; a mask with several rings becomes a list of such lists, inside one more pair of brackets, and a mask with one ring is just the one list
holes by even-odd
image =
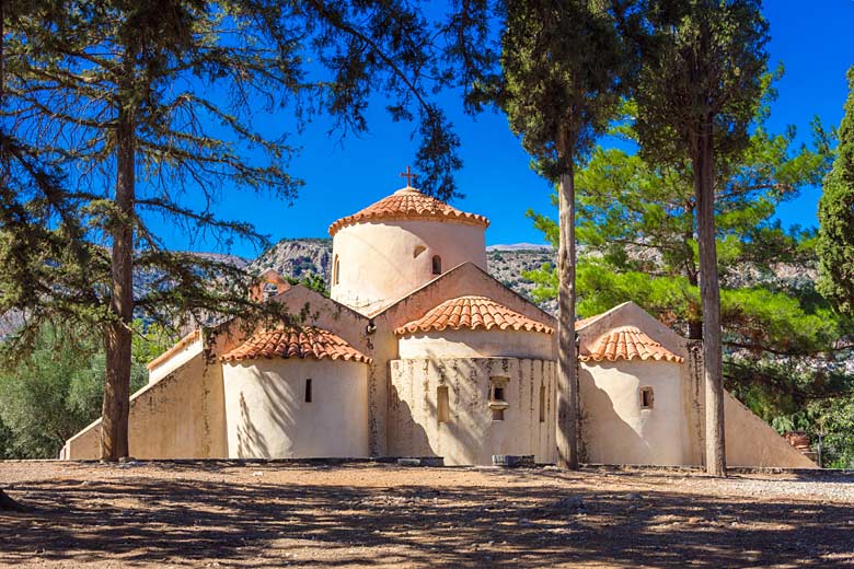
[[504, 8], [501, 72], [491, 95], [538, 169], [558, 186], [557, 451], [562, 466], [577, 468], [575, 166], [627, 91], [632, 2], [508, 1]]

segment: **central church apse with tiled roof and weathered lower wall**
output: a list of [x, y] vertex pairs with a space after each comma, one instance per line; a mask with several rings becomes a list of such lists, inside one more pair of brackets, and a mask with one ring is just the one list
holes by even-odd
[[396, 334], [393, 454], [429, 451], [449, 465], [487, 465], [498, 454], [554, 461], [551, 327], [486, 297], [461, 297]]

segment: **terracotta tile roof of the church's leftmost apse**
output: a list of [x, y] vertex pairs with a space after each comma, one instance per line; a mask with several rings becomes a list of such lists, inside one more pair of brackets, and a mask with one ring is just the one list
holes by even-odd
[[323, 328], [286, 327], [261, 330], [220, 358], [221, 361], [242, 361], [259, 358], [314, 358], [318, 360], [347, 360], [370, 363], [371, 359], [347, 344], [339, 336]]

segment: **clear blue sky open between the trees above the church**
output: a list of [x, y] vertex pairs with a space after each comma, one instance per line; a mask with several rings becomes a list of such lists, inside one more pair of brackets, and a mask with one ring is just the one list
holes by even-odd
[[[785, 77], [772, 106], [769, 127], [774, 132], [795, 125], [798, 138], [810, 140], [809, 121], [818, 115], [826, 125], [839, 125], [846, 96], [845, 70], [854, 65], [854, 0], [765, 0], [771, 25], [771, 66], [783, 62]], [[529, 169], [528, 155], [507, 128], [504, 116], [487, 113], [471, 118], [453, 98], [445, 101], [462, 140], [463, 169], [457, 176], [465, 195], [453, 205], [487, 216], [487, 244], [542, 243], [526, 211], [552, 212], [550, 186]], [[284, 237], [327, 236], [328, 225], [381, 199], [404, 185], [399, 177], [414, 161], [412, 126], [393, 124], [381, 111], [371, 111], [371, 131], [343, 142], [327, 136], [328, 125], [316, 121], [295, 139], [301, 152], [291, 173], [305, 181], [292, 205], [265, 197], [228, 194], [218, 213], [255, 224], [273, 242]], [[270, 116], [267, 120], [287, 121]], [[417, 182], [415, 184], [417, 186]], [[807, 188], [785, 204], [778, 216], [785, 224], [817, 224], [819, 188]], [[174, 248], [215, 249], [212, 243], [189, 243], [186, 235], [161, 232]], [[231, 253], [254, 257], [258, 252], [235, 243]]]

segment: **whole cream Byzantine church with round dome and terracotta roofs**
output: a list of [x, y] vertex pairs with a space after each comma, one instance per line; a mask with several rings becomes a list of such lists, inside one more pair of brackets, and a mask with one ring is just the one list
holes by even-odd
[[[235, 318], [150, 362], [130, 454], [554, 463], [556, 322], [489, 276], [488, 225], [409, 184], [335, 221], [330, 298], [267, 271], [255, 294], [299, 324]], [[582, 462], [702, 465], [701, 347], [634, 303], [576, 330]], [[725, 397], [729, 465], [816, 467]], [[96, 458], [100, 430], [61, 457]]]

